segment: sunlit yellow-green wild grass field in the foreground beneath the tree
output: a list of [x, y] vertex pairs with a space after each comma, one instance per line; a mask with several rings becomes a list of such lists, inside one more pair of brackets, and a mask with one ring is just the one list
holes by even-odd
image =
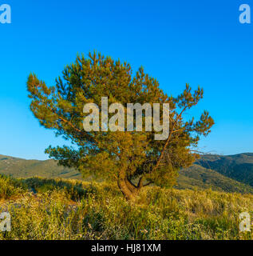
[[[145, 187], [127, 202], [106, 183], [0, 178], [0, 213], [8, 239], [251, 239], [239, 213], [253, 214], [253, 195]], [[13, 183], [14, 182], [14, 183]], [[15, 186], [13, 186], [15, 184]], [[6, 198], [6, 200], [4, 200]]]

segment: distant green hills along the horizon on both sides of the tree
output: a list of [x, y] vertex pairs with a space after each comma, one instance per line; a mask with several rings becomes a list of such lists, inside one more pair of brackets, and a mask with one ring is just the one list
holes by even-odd
[[[81, 179], [77, 170], [57, 166], [54, 160], [25, 160], [0, 155], [0, 174], [14, 178]], [[178, 189], [208, 189], [253, 194], [253, 154], [204, 155], [195, 165], [180, 170]]]

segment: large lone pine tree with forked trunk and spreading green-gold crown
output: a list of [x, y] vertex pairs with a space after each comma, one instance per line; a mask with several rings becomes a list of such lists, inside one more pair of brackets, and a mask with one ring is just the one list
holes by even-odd
[[[186, 85], [184, 92], [174, 98], [164, 94], [159, 82], [145, 74], [143, 68], [133, 76], [128, 63], [96, 53], [89, 54], [89, 58], [77, 56], [76, 62], [66, 66], [62, 76], [56, 79], [55, 86], [46, 86], [35, 74], [30, 74], [27, 89], [30, 109], [41, 125], [55, 130], [57, 136], [75, 145], [49, 146], [45, 150], [49, 157], [59, 160], [62, 166], [76, 168], [84, 176], [117, 181], [127, 199], [134, 198], [141, 188], [151, 183], [172, 186], [178, 170], [196, 160], [196, 154], [192, 154], [190, 148], [197, 146], [200, 136], [208, 135], [214, 124], [207, 111], [199, 121], [194, 118], [184, 120], [184, 112], [203, 98], [204, 91], [200, 87], [192, 92]], [[102, 97], [109, 98], [109, 105], [121, 103], [125, 110], [128, 103], [169, 104], [168, 138], [155, 140], [154, 129], [126, 131], [126, 122], [121, 130], [116, 113], [109, 114], [109, 118], [115, 118], [116, 132], [85, 131], [83, 121], [90, 114], [84, 113], [84, 106], [95, 103], [101, 110]], [[99, 127], [108, 127], [108, 121], [102, 118], [97, 122]], [[136, 123], [136, 117], [133, 123]], [[135, 184], [133, 180], [136, 178], [138, 182]]]

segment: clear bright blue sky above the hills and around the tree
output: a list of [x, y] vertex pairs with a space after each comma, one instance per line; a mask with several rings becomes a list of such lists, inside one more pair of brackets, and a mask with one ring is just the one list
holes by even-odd
[[253, 25], [239, 23], [239, 6], [253, 15], [252, 0], [2, 3], [12, 23], [0, 24], [0, 154], [46, 159], [47, 146], [65, 144], [30, 112], [26, 80], [34, 72], [53, 85], [77, 53], [93, 50], [144, 66], [168, 94], [186, 82], [204, 87], [192, 113], [209, 110], [215, 126], [200, 150], [253, 152]]

